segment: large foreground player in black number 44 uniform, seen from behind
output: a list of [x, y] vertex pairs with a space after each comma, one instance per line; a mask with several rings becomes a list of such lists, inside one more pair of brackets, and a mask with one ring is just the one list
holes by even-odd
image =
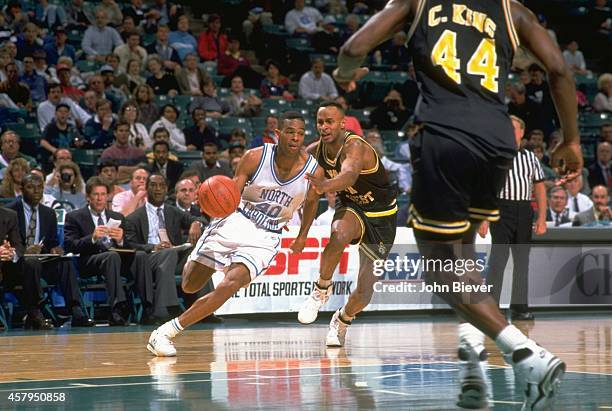
[[[525, 45], [547, 69], [564, 134], [552, 162], [570, 179], [582, 170], [573, 76], [546, 30], [518, 2], [391, 0], [343, 45], [334, 72], [340, 85], [354, 89], [368, 72], [360, 67], [367, 54], [408, 22], [413, 23], [408, 47], [422, 94], [417, 113], [422, 129], [412, 147], [409, 224], [425, 258], [470, 258], [480, 222], [499, 218], [495, 195], [516, 152], [503, 104], [516, 47]], [[480, 281], [473, 274], [464, 277]], [[428, 272], [427, 280], [451, 283], [458, 277]], [[466, 304], [461, 295], [442, 297], [503, 351], [524, 393], [524, 408], [548, 409], [565, 364], [509, 325], [490, 296], [472, 296], [479, 304]], [[483, 336], [476, 328], [460, 326], [462, 369], [477, 369], [484, 357]], [[468, 380], [462, 406], [479, 405], [484, 383], [476, 374], [462, 375]]]

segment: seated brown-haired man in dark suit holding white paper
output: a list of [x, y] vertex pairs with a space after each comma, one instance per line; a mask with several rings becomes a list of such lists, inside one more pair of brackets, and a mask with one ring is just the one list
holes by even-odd
[[[147, 254], [119, 253], [111, 249], [126, 247], [124, 217], [108, 210], [110, 187], [106, 180], [92, 177], [85, 187], [89, 205], [66, 215], [64, 224], [66, 251], [80, 254], [81, 276], [102, 274], [106, 281], [108, 303], [112, 307], [110, 325], [127, 325], [127, 299], [121, 282], [121, 273], [127, 272], [135, 280], [136, 290], [145, 305], [146, 322], [153, 306], [153, 277]], [[119, 227], [110, 228], [109, 220], [121, 221]]]

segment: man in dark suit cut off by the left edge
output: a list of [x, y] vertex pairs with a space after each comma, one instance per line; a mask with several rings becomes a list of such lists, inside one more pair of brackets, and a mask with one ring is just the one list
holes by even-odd
[[17, 214], [0, 207], [0, 281], [7, 290], [12, 290], [16, 285], [23, 286], [20, 302], [27, 311], [26, 329], [50, 330], [53, 324], [43, 317], [38, 307], [37, 284], [40, 284], [40, 278], [36, 277], [31, 261], [23, 258], [24, 253]]

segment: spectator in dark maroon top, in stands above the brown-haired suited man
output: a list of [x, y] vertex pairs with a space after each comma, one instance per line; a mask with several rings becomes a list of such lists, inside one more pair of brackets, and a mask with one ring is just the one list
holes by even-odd
[[102, 159], [112, 158], [119, 165], [117, 180], [126, 181], [140, 164], [146, 163], [145, 152], [129, 144], [130, 124], [120, 120], [115, 126], [115, 142], [102, 152]]

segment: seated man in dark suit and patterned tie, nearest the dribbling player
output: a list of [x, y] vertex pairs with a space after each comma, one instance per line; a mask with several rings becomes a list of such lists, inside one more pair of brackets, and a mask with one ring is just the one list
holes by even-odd
[[189, 241], [195, 244], [201, 235], [201, 225], [192, 216], [176, 207], [164, 204], [168, 183], [161, 174], [147, 179], [147, 202], [126, 220], [126, 240], [131, 247], [149, 254], [149, 263], [155, 278], [155, 306], [153, 316], [165, 321], [168, 307], [178, 306], [175, 270], [183, 254], [173, 246], [183, 244], [181, 230], [189, 229]]

